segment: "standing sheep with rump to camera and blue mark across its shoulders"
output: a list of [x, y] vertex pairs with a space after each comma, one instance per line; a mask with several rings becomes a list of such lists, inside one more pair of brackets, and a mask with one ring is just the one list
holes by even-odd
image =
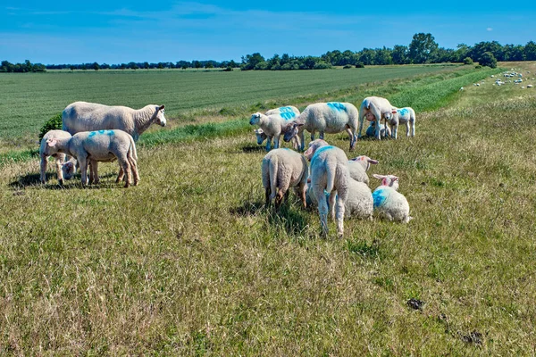
[[317, 139], [309, 143], [306, 158], [311, 161], [311, 187], [316, 197], [322, 197], [324, 190], [329, 195], [329, 203], [319, 200], [318, 212], [322, 233], [328, 234], [328, 210], [331, 218], [337, 220], [339, 237], [344, 235], [345, 202], [348, 198], [348, 157], [339, 147], [328, 145]]

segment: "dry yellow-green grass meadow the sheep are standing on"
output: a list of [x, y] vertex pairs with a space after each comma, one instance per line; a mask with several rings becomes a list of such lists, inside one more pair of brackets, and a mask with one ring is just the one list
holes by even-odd
[[[536, 89], [469, 69], [345, 81], [357, 71], [331, 71], [341, 87], [256, 87], [263, 99], [206, 107], [234, 113], [224, 118], [191, 107], [179, 124], [177, 110], [171, 128], [140, 139], [138, 187], [114, 183], [115, 163], [83, 189], [58, 187], [52, 170], [39, 185], [36, 157], [1, 162], [0, 354], [536, 354]], [[400, 129], [354, 153], [346, 134], [326, 140], [379, 160], [369, 176], [398, 175], [414, 220], [345, 220], [342, 239], [330, 221], [322, 238], [318, 213], [292, 193], [281, 212], [264, 207], [265, 153], [243, 113], [285, 95], [304, 106], [369, 94], [414, 105], [415, 138]]]

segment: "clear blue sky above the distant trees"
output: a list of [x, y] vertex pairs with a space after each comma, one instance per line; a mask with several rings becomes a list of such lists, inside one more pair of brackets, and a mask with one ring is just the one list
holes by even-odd
[[255, 52], [272, 57], [407, 46], [418, 32], [430, 32], [448, 48], [493, 40], [525, 45], [536, 41], [532, 3], [2, 2], [0, 60], [239, 61]]

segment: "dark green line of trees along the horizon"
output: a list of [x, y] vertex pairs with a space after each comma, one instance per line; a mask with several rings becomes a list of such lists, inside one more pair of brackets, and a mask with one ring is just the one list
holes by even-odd
[[129, 62], [121, 64], [99, 64], [97, 62], [82, 64], [12, 64], [3, 61], [0, 71], [28, 72], [49, 70], [138, 70], [138, 69], [213, 69], [221, 68], [223, 71], [232, 71], [240, 68], [242, 71], [291, 71], [291, 70], [322, 70], [333, 66], [364, 67], [365, 65], [386, 64], [420, 64], [465, 62], [467, 64], [479, 62], [482, 65], [495, 66], [497, 61], [536, 61], [536, 43], [529, 41], [522, 45], [500, 45], [497, 41], [479, 42], [474, 46], [459, 44], [456, 49], [440, 47], [430, 33], [417, 33], [408, 46], [396, 45], [393, 48], [364, 48], [353, 52], [346, 50], [328, 51], [320, 56], [291, 56], [289, 54], [274, 54], [272, 58], [265, 59], [259, 53], [242, 56], [241, 62], [231, 61], [179, 61], [179, 62]]

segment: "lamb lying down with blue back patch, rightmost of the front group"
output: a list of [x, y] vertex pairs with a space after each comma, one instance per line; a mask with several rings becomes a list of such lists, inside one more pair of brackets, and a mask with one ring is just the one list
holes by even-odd
[[381, 179], [381, 186], [373, 192], [374, 211], [378, 212], [380, 218], [404, 223], [412, 220], [406, 197], [398, 192], [398, 177], [377, 174], [373, 176]]

